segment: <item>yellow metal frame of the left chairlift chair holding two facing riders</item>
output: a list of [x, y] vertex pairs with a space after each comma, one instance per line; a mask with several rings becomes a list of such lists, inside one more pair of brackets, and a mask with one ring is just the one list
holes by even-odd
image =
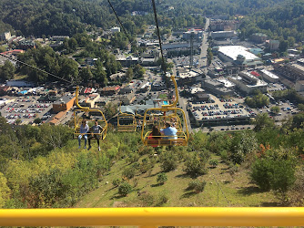
[[[103, 126], [103, 130], [102, 132], [100, 133], [91, 133], [91, 134], [94, 134], [94, 135], [100, 135], [102, 136], [102, 140], [105, 140], [106, 138], [106, 132], [107, 132], [107, 121], [106, 121], [106, 117], [104, 115], [104, 113], [99, 110], [99, 109], [90, 109], [89, 107], [82, 107], [81, 105], [79, 105], [79, 102], [78, 102], [78, 92], [79, 92], [79, 87], [76, 87], [76, 99], [75, 99], [75, 102], [76, 102], [76, 106], [78, 107], [78, 109], [74, 110], [74, 136], [78, 136], [80, 133], [78, 133], [77, 131], [79, 130], [79, 124], [76, 120], [76, 111], [77, 110], [80, 110], [80, 111], [85, 111], [85, 112], [99, 112], [102, 116], [102, 122], [105, 123], [105, 126]], [[88, 119], [86, 119], [88, 120]]]

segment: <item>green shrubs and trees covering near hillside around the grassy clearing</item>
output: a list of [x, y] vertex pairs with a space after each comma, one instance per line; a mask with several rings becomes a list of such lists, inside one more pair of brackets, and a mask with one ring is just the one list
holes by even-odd
[[[110, 131], [102, 141], [101, 151], [96, 150], [95, 144], [87, 151], [77, 150], [77, 141], [72, 140], [73, 130], [68, 127], [28, 125], [12, 128], [0, 118], [0, 207], [70, 207], [106, 181], [113, 183], [113, 197], [127, 197], [130, 192], [140, 191], [138, 182], [147, 186], [148, 178], [153, 175], [157, 175], [158, 180], [155, 186], [178, 178], [183, 178], [184, 184], [187, 180], [192, 181], [184, 198], [198, 193], [204, 196], [206, 183], [212, 184], [208, 173], [213, 173], [210, 169], [217, 168], [219, 162], [223, 165], [217, 172], [218, 181], [226, 180], [227, 173], [248, 176], [249, 181], [234, 183], [234, 192], [246, 189], [242, 184], [251, 182], [250, 188], [259, 199], [263, 199], [261, 193], [272, 191], [277, 193], [280, 203], [302, 206], [303, 120], [303, 113], [299, 113], [278, 128], [267, 115], [259, 115], [254, 123], [255, 131], [198, 132], [190, 136], [187, 147], [171, 149], [143, 146], [137, 132]], [[115, 168], [117, 173], [111, 180], [109, 173], [117, 163], [123, 165], [118, 165], [119, 171]], [[177, 167], [178, 175], [174, 174]], [[181, 194], [183, 191], [178, 190]], [[238, 194], [231, 194], [235, 205], [260, 206], [257, 205], [260, 201], [248, 204], [244, 194], [239, 199]], [[96, 197], [99, 199], [101, 195]], [[166, 199], [162, 204], [177, 205], [173, 198], [169, 200], [170, 192]], [[199, 202], [199, 206], [204, 205]]]

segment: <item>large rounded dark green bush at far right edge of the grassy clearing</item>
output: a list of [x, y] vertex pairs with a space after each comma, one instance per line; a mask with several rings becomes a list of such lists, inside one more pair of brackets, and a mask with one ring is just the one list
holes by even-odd
[[292, 160], [263, 158], [253, 163], [250, 177], [264, 191], [287, 192], [296, 181], [295, 164]]

